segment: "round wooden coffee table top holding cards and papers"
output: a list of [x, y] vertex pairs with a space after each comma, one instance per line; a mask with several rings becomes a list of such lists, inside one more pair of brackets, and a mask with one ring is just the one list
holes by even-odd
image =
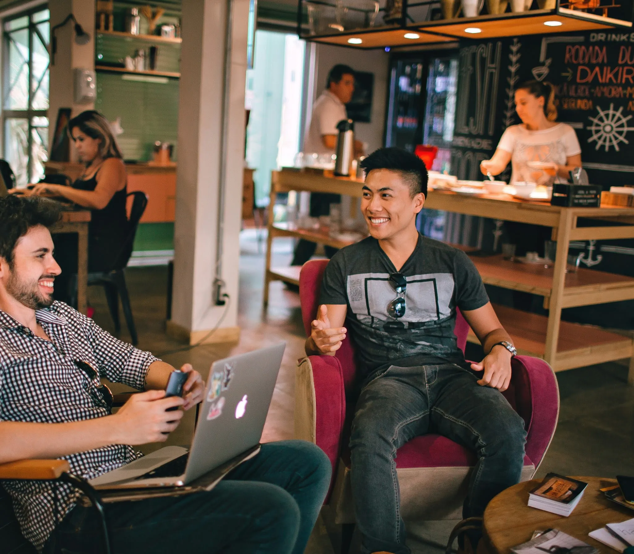
[[609, 501], [598, 489], [616, 485], [616, 479], [602, 477], [575, 477], [588, 483], [583, 498], [568, 517], [544, 512], [527, 506], [528, 493], [541, 479], [519, 483], [496, 496], [484, 512], [484, 536], [488, 538], [491, 554], [508, 554], [510, 548], [526, 543], [533, 531], [559, 529], [592, 544], [602, 554], [615, 551], [588, 537], [590, 531], [600, 529], [607, 523], [623, 522], [634, 517], [634, 510]]

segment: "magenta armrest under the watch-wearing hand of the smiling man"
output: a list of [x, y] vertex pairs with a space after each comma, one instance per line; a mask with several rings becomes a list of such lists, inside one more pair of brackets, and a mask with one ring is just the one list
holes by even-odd
[[559, 387], [552, 368], [540, 358], [512, 360], [517, 413], [526, 422], [526, 454], [537, 468], [550, 446], [559, 418]]

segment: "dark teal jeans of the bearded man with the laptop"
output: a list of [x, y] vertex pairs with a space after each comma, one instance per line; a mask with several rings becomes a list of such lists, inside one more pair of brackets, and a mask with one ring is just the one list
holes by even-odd
[[[112, 554], [301, 554], [329, 484], [330, 461], [314, 444], [264, 444], [209, 493], [105, 505]], [[58, 525], [56, 553], [100, 544], [94, 508], [76, 506]]]

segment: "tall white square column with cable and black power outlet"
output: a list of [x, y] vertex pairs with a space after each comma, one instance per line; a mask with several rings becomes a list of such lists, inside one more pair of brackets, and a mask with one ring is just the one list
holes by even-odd
[[[244, 160], [244, 89], [249, 0], [233, 0], [229, 125], [223, 151], [226, 0], [183, 2], [183, 46], [178, 123], [174, 289], [167, 333], [193, 344], [238, 340], [238, 259]], [[221, 159], [226, 160], [222, 274], [228, 306], [216, 306]]]

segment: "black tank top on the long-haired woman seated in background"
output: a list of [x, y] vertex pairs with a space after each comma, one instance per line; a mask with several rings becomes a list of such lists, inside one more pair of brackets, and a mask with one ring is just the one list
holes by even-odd
[[[100, 170], [101, 167], [89, 179], [77, 179], [72, 187], [93, 191]], [[127, 183], [122, 190], [115, 192], [103, 210], [91, 210], [92, 219], [88, 225], [89, 271], [113, 269], [117, 261], [127, 236], [126, 196]]]

